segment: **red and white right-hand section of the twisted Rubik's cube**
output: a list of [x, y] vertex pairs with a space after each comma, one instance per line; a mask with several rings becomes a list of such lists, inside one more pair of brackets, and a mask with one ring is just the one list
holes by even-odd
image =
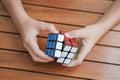
[[72, 59], [75, 57], [77, 51], [78, 51], [78, 45], [76, 40], [74, 38], [71, 39], [71, 38], [65, 37], [61, 57], [57, 59], [57, 62], [70, 64]]

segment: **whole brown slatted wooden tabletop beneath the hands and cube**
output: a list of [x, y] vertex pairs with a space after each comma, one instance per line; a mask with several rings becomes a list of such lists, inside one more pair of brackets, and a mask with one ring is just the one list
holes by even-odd
[[[98, 21], [112, 0], [22, 0], [28, 15], [54, 23], [62, 31], [83, 28]], [[48, 32], [39, 34], [45, 50]], [[44, 37], [44, 38], [43, 38]], [[120, 80], [120, 24], [103, 36], [80, 66], [33, 62], [19, 32], [0, 2], [0, 79], [2, 80]]]

